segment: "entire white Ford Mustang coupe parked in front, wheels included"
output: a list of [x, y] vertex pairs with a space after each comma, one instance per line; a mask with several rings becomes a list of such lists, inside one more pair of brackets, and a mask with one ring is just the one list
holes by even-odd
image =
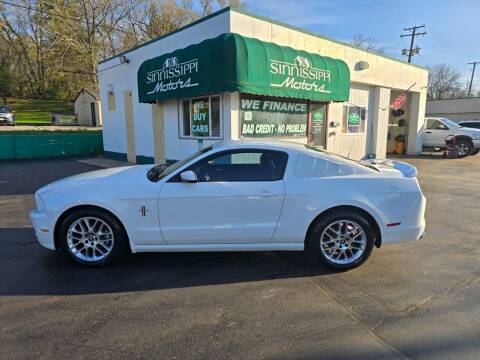
[[357, 162], [302, 144], [221, 142], [169, 167], [127, 166], [49, 184], [30, 213], [39, 242], [84, 265], [125, 249], [312, 251], [336, 269], [374, 246], [417, 240], [416, 169]]

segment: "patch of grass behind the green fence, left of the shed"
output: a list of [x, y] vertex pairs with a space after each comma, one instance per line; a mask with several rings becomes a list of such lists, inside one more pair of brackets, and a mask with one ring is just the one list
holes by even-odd
[[17, 124], [50, 124], [51, 113], [73, 113], [72, 101], [7, 99], [15, 110]]

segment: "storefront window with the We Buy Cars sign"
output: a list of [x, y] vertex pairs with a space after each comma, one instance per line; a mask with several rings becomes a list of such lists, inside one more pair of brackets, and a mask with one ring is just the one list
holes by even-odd
[[219, 138], [220, 128], [220, 96], [203, 96], [181, 101], [181, 134], [182, 137]]

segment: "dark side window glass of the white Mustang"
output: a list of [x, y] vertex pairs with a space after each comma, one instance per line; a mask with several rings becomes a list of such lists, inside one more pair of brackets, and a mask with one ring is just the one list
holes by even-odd
[[214, 154], [192, 165], [200, 182], [276, 181], [283, 178], [288, 155], [282, 151], [235, 150]]

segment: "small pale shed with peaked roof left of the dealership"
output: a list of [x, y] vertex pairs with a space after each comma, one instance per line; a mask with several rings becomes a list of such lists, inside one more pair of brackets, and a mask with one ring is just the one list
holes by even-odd
[[82, 88], [73, 100], [78, 125], [102, 126], [100, 97], [97, 90]]

